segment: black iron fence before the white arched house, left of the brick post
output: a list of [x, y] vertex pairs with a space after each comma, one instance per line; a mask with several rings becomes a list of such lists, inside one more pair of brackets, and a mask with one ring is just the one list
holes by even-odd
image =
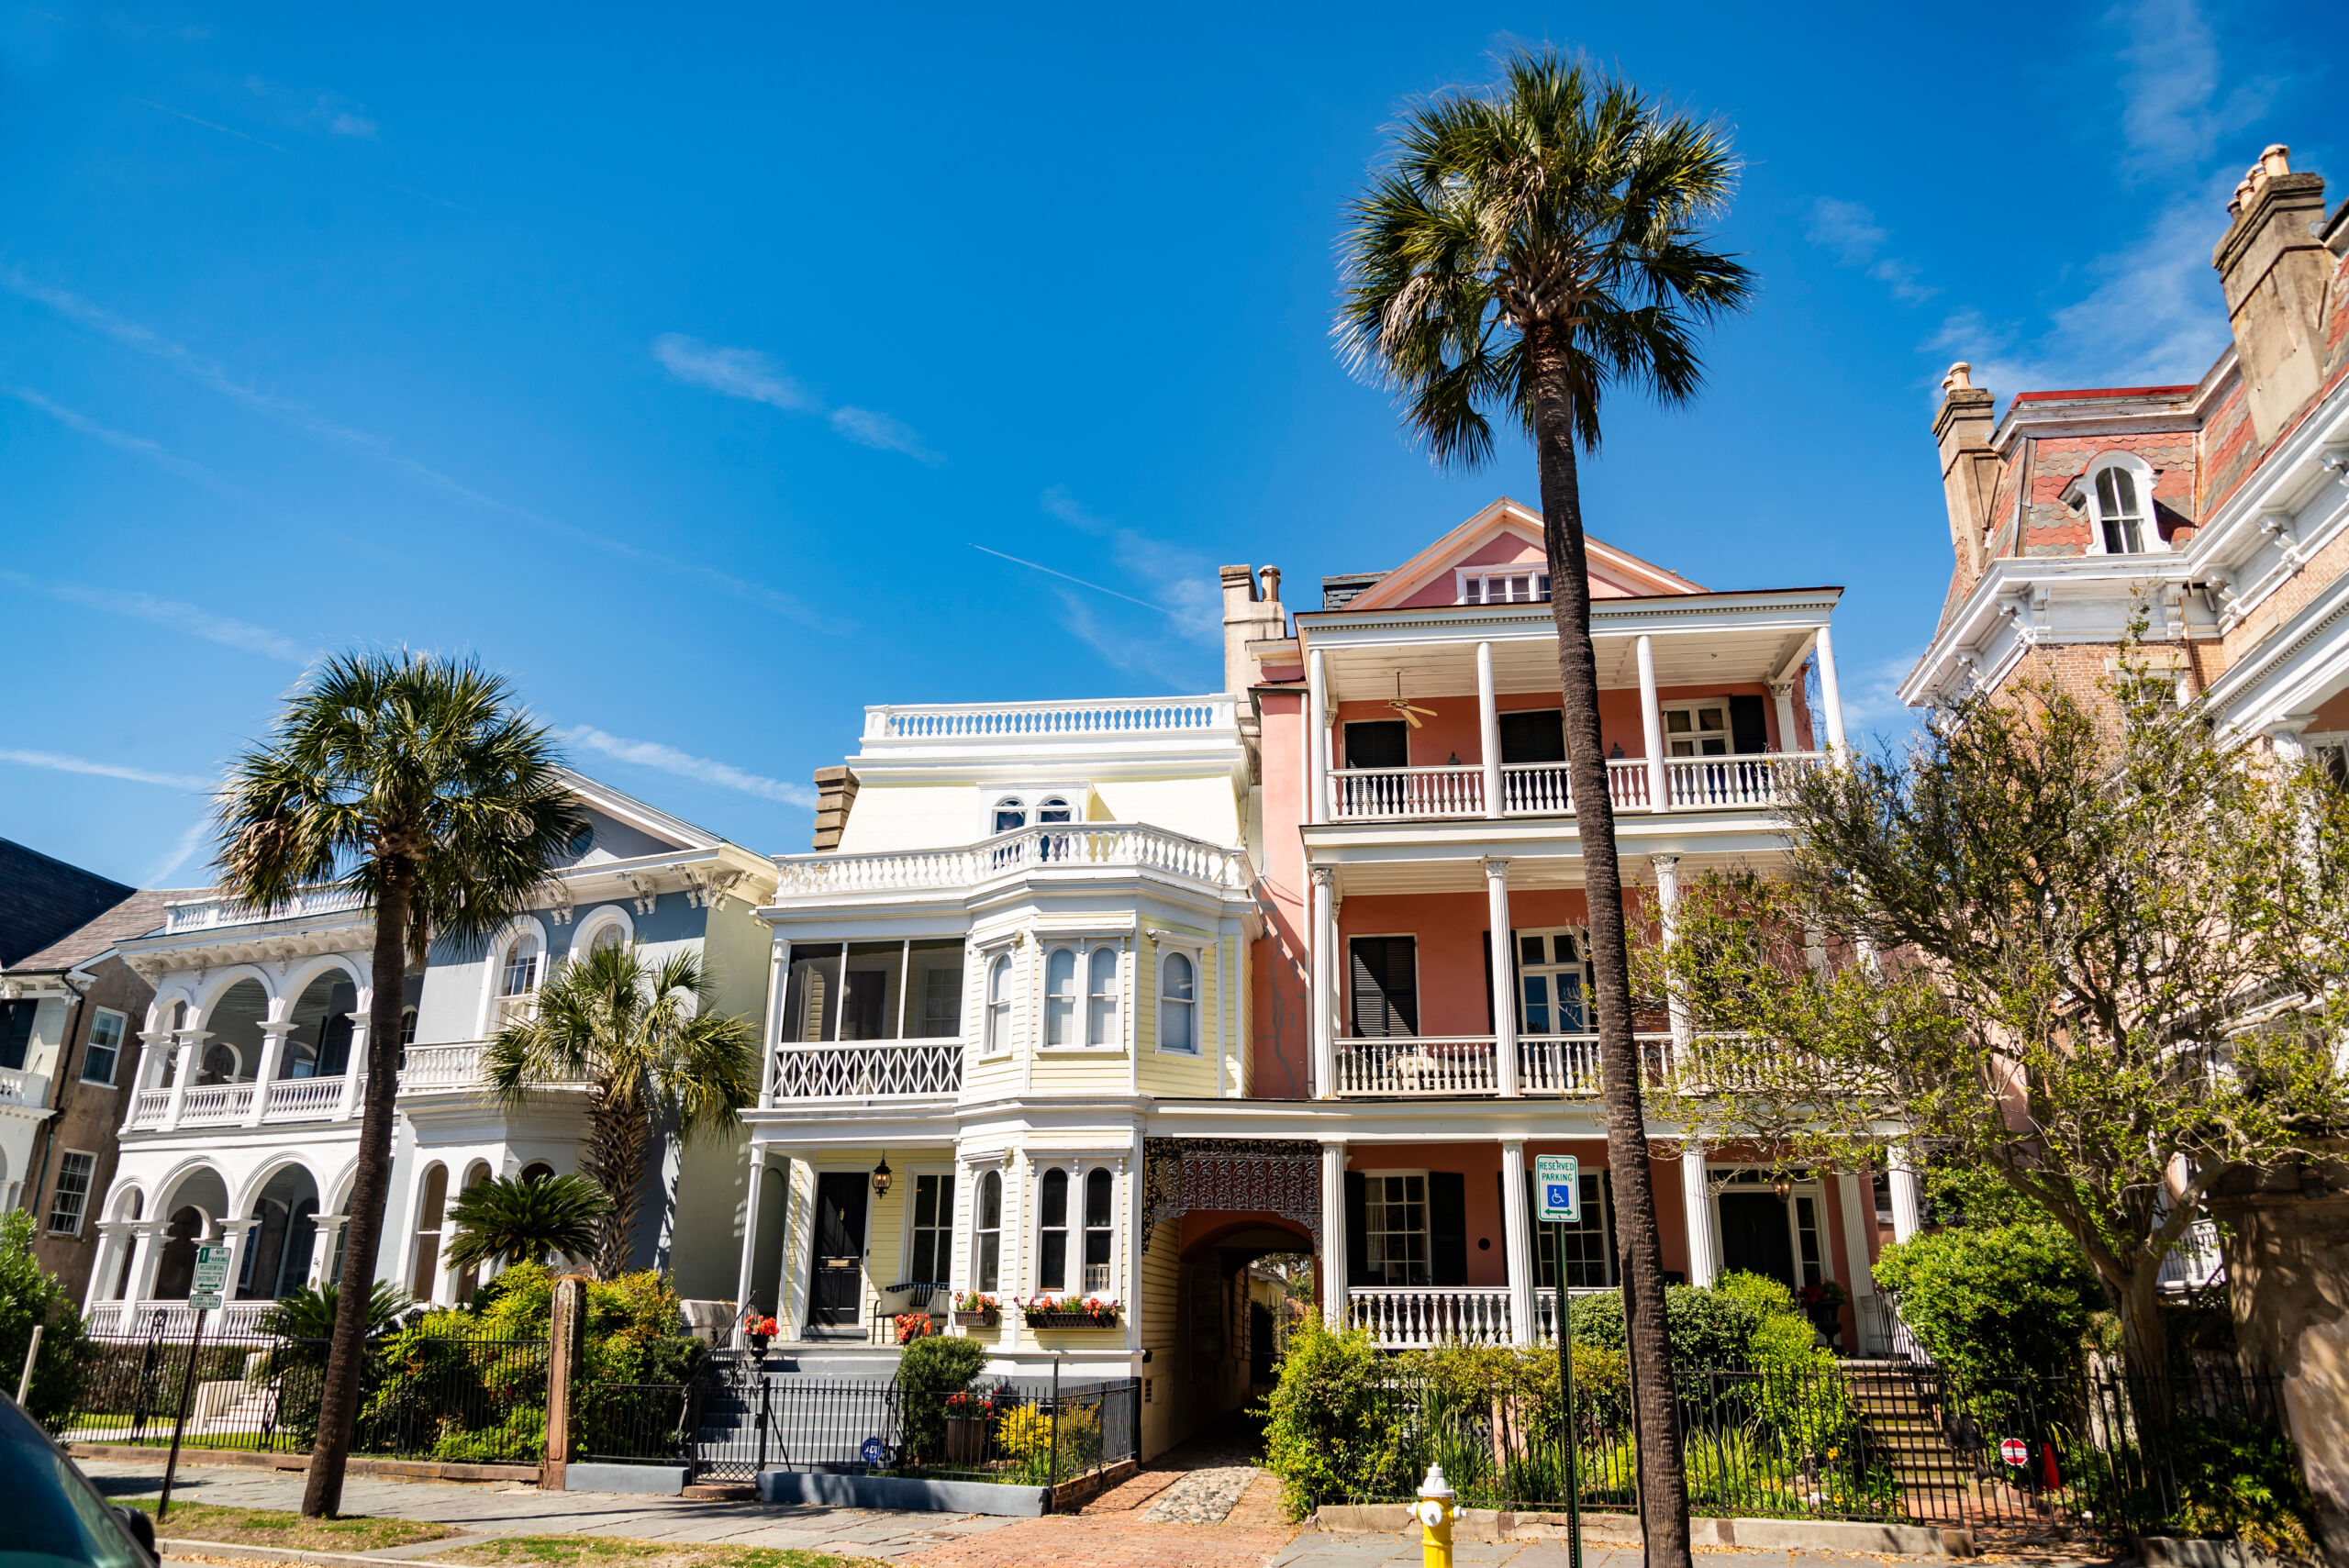
[[[303, 1453], [324, 1376], [327, 1340], [96, 1340], [61, 1437], [169, 1446], [186, 1399], [186, 1448]], [[536, 1465], [545, 1430], [545, 1340], [409, 1331], [369, 1347], [352, 1453]]]

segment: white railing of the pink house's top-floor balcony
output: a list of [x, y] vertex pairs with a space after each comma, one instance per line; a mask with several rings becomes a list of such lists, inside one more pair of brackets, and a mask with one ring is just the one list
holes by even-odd
[[[1663, 765], [1668, 810], [1755, 810], [1778, 805], [1792, 770], [1813, 768], [1825, 753], [1672, 758]], [[1656, 810], [1647, 758], [1609, 758], [1607, 793], [1618, 812]], [[1485, 770], [1468, 763], [1442, 768], [1332, 768], [1334, 822], [1428, 822], [1485, 817]], [[1503, 763], [1503, 817], [1557, 817], [1574, 810], [1574, 786], [1564, 763]]]

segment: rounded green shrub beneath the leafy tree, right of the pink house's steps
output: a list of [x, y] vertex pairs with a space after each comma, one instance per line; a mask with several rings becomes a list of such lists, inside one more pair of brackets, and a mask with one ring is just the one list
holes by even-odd
[[2095, 1270], [2048, 1221], [1898, 1242], [1875, 1277], [1933, 1361], [1976, 1378], [2077, 1366], [2088, 1317], [2105, 1305]]

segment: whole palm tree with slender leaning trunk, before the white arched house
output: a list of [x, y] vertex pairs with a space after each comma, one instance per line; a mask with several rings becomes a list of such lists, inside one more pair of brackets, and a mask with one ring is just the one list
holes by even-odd
[[[585, 815], [547, 730], [472, 660], [343, 653], [287, 699], [221, 791], [221, 885], [256, 908], [334, 883], [376, 911], [366, 1101], [343, 1277], [373, 1279], [392, 1174], [399, 1007], [432, 939], [482, 944], [529, 904]], [[343, 1291], [301, 1512], [331, 1516], [366, 1359], [366, 1296]]]

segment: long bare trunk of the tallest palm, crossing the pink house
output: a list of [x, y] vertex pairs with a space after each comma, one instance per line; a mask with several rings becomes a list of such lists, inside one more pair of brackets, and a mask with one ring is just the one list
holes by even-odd
[[[1614, 1178], [1616, 1263], [1630, 1284], [1623, 1338], [1640, 1434], [1640, 1519], [1647, 1563], [1689, 1568], [1689, 1476], [1680, 1455], [1672, 1352], [1663, 1317], [1663, 1242], [1656, 1183], [1640, 1106], [1640, 1049], [1630, 1033], [1630, 960], [1623, 939], [1623, 869], [1616, 861], [1614, 798], [1600, 744], [1600, 669], [1590, 646], [1590, 556], [1574, 458], [1574, 392], [1564, 333], [1527, 331], [1534, 361], [1534, 455], [1541, 467], [1541, 538], [1550, 559], [1550, 615], [1557, 620], [1557, 688], [1567, 728], [1567, 772], [1583, 850], [1590, 906], [1590, 981], [1600, 1019], [1600, 1089], [1607, 1096], [1607, 1169]], [[1506, 941], [1496, 932], [1496, 941]], [[1508, 953], [1501, 948], [1501, 960]]]

